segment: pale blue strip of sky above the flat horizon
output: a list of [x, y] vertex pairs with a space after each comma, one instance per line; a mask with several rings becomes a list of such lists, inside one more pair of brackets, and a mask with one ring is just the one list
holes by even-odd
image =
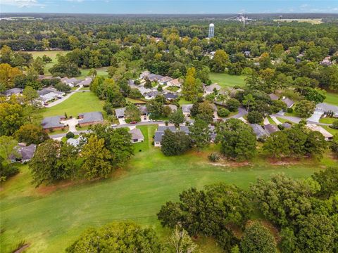
[[338, 0], [0, 0], [0, 13], [338, 13]]

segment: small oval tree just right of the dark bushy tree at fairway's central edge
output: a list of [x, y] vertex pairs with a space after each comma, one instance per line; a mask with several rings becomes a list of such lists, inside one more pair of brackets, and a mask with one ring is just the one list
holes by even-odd
[[196, 119], [194, 124], [189, 126], [189, 136], [199, 150], [209, 145], [211, 141], [211, 131], [208, 127], [208, 123], [203, 119]]

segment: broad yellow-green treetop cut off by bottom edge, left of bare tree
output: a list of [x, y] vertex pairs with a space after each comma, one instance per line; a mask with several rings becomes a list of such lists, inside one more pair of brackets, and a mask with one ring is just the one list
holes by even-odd
[[65, 251], [82, 252], [162, 252], [161, 242], [151, 228], [132, 222], [111, 223], [101, 228], [88, 228]]

